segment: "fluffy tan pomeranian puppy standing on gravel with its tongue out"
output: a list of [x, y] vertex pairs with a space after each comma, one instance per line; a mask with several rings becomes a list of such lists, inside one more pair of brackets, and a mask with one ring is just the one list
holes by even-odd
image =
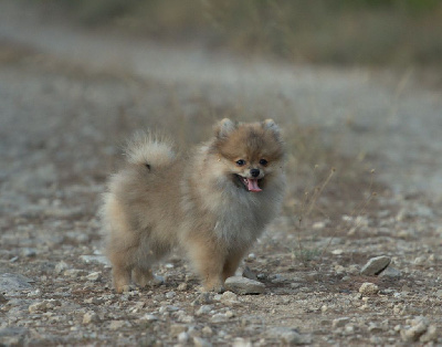
[[277, 125], [225, 118], [188, 156], [148, 133], [133, 139], [126, 155], [102, 210], [116, 291], [127, 291], [130, 280], [148, 284], [152, 263], [178, 246], [204, 290], [222, 292], [283, 199], [285, 153]]

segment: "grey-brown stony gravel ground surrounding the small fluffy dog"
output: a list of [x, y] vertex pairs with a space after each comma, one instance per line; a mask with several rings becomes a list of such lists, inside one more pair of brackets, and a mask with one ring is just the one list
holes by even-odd
[[[241, 61], [17, 9], [0, 3], [0, 345], [442, 344], [440, 90], [417, 73]], [[172, 255], [151, 287], [117, 295], [97, 209], [123, 139], [149, 126], [193, 143], [243, 114], [272, 115], [286, 136], [318, 129], [332, 164], [357, 168], [299, 223], [312, 175], [292, 156], [284, 212], [241, 269], [263, 285], [201, 293]]]

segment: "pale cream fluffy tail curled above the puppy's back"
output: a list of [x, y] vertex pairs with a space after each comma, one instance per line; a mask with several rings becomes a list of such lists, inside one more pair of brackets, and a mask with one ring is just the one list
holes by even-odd
[[126, 145], [127, 161], [148, 169], [169, 166], [177, 157], [173, 144], [168, 138], [147, 133], [137, 133]]

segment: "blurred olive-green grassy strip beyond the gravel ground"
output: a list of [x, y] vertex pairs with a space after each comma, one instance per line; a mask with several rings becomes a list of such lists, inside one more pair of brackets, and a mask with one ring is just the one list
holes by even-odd
[[293, 63], [442, 65], [438, 0], [40, 2], [90, 28]]

